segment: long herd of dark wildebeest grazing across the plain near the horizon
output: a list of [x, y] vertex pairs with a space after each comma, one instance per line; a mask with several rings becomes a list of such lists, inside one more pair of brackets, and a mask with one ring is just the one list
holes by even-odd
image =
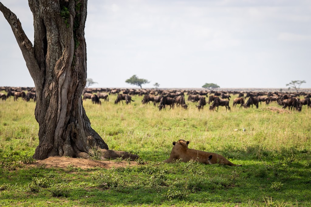
[[[35, 88], [30, 87], [0, 87], [0, 99], [5, 101], [11, 96], [14, 101], [21, 98], [25, 101], [36, 101]], [[25, 92], [26, 91], [26, 92]], [[276, 102], [283, 109], [288, 107], [289, 110], [301, 111], [303, 105], [311, 108], [311, 93], [307, 92], [238, 92], [238, 91], [207, 91], [207, 90], [161, 90], [161, 89], [117, 89], [117, 88], [86, 88], [83, 91], [83, 100], [91, 99], [94, 104], [101, 104], [100, 99], [109, 101], [109, 96], [116, 97], [114, 103], [118, 104], [125, 101], [126, 104], [131, 103], [132, 96], [141, 96], [142, 104], [152, 102], [159, 110], [174, 109], [174, 106], [188, 108], [189, 103], [186, 103], [185, 94], [188, 95], [187, 101], [196, 102], [198, 110], [202, 110], [208, 103], [210, 110], [217, 110], [219, 106], [225, 106], [226, 110], [231, 110], [229, 106], [230, 95], [238, 95], [233, 99], [233, 107], [240, 105], [241, 107], [250, 107], [253, 105], [258, 108], [258, 104], [265, 102], [269, 105], [271, 102]], [[304, 97], [304, 98], [299, 98]], [[246, 101], [246, 98], [248, 100]]]

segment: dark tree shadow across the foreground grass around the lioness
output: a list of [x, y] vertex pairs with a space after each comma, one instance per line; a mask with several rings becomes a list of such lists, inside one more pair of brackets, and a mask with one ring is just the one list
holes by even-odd
[[[191, 205], [193, 202], [262, 205], [264, 199], [272, 198], [279, 204], [296, 205], [297, 201], [298, 205], [311, 205], [309, 151], [261, 152], [259, 160], [256, 148], [220, 152], [242, 167], [196, 162], [165, 164], [158, 162], [169, 157], [164, 151], [141, 151], [142, 158], [154, 161], [117, 169], [9, 170], [6, 166], [0, 169], [0, 200], [3, 205], [11, 205], [16, 199], [26, 203], [69, 200], [72, 205]], [[47, 186], [30, 191], [34, 178], [36, 183], [48, 182]], [[51, 188], [55, 183], [63, 183], [67, 193], [53, 196]]]

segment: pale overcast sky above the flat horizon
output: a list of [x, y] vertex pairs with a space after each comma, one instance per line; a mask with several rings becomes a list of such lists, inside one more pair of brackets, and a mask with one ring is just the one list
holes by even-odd
[[[26, 0], [0, 0], [33, 42]], [[0, 86], [34, 86], [0, 13]], [[85, 28], [92, 87], [311, 88], [310, 0], [89, 0]]]

